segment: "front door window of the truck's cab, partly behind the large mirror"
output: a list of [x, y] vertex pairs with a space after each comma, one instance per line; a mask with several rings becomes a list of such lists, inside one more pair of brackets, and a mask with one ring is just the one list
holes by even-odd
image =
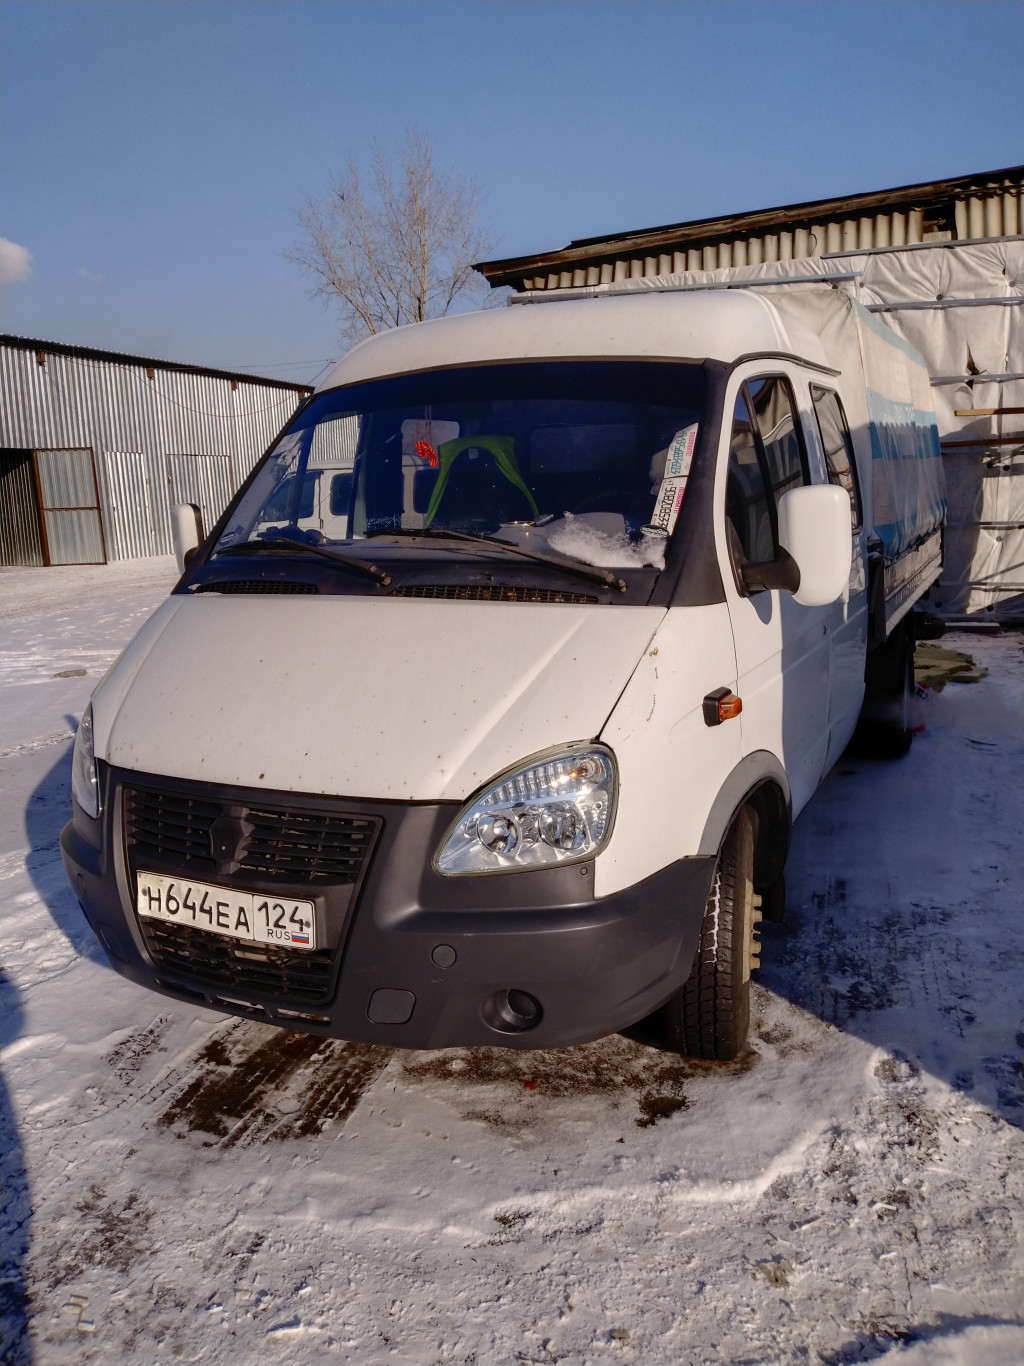
[[778, 500], [807, 484], [807, 455], [789, 381], [750, 380], [733, 411], [726, 516], [733, 556], [763, 564], [778, 555]]

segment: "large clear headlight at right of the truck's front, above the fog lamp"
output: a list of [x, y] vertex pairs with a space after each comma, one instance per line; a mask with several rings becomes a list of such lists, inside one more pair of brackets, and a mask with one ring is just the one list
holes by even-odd
[[612, 833], [616, 790], [612, 751], [595, 744], [509, 769], [461, 809], [434, 867], [457, 877], [593, 858]]

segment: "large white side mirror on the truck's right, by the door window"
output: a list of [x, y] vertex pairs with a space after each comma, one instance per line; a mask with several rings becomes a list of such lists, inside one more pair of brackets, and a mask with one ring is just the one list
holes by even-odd
[[778, 501], [778, 540], [800, 567], [793, 593], [804, 607], [842, 596], [853, 563], [849, 494], [836, 484], [791, 489]]

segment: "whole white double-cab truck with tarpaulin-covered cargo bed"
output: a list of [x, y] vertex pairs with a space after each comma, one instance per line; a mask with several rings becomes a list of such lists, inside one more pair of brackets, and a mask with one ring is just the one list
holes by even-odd
[[792, 821], [859, 719], [909, 746], [943, 514], [923, 363], [834, 288], [371, 337], [201, 546], [179, 510], [78, 731], [71, 885], [117, 971], [227, 1014], [550, 1048], [662, 1011], [733, 1057]]

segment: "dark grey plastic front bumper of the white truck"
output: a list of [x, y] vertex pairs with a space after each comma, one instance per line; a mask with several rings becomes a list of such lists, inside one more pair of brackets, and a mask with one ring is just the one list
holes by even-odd
[[[713, 858], [679, 859], [601, 899], [591, 892], [593, 863], [440, 877], [430, 859], [457, 811], [452, 803], [330, 802], [105, 766], [102, 783], [105, 814], [90, 821], [75, 810], [60, 847], [68, 881], [119, 973], [231, 1015], [395, 1048], [556, 1048], [635, 1023], [688, 977], [714, 872]], [[126, 785], [147, 784], [225, 806], [285, 803], [294, 810], [303, 803], [377, 822], [375, 846], [355, 884], [315, 889], [319, 941], [326, 945], [318, 982], [296, 978], [287, 966], [279, 970], [277, 953], [273, 971], [244, 975], [243, 968], [238, 975], [233, 941], [206, 932], [193, 933], [203, 948], [217, 949], [217, 955], [168, 958], [154, 948], [152, 922], [143, 925], [134, 910], [132, 858], [139, 855], [123, 831]], [[162, 867], [239, 888], [255, 885], [244, 870], [210, 876]], [[311, 893], [304, 888], [288, 895]], [[302, 951], [292, 958], [302, 970], [309, 966]], [[496, 1009], [509, 990], [539, 1003], [530, 1027], [511, 1026], [508, 1012]]]

